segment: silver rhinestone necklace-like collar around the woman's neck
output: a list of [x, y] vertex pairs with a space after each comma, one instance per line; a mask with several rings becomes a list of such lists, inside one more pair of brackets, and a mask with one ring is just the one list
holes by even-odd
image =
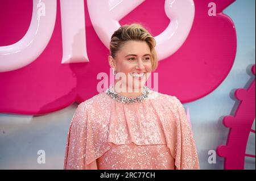
[[132, 104], [132, 103], [138, 103], [142, 102], [144, 99], [148, 98], [149, 88], [147, 86], [144, 86], [144, 91], [141, 95], [137, 97], [127, 97], [123, 95], [119, 95], [116, 91], [110, 89], [110, 87], [106, 90], [106, 93], [114, 100], [116, 100], [119, 103], [125, 103], [125, 104]]

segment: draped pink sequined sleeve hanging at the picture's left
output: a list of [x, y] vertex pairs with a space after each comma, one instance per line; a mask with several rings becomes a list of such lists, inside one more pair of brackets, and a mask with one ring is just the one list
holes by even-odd
[[83, 169], [96, 170], [96, 159], [86, 164], [86, 134], [87, 112], [84, 104], [77, 107], [68, 129], [67, 144], [65, 148], [64, 170]]

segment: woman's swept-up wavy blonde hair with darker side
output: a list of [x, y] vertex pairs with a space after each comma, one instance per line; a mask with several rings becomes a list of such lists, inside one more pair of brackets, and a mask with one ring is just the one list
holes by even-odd
[[141, 24], [125, 24], [113, 33], [110, 40], [110, 55], [114, 58], [122, 45], [129, 40], [146, 41], [151, 52], [152, 71], [158, 66], [154, 37]]

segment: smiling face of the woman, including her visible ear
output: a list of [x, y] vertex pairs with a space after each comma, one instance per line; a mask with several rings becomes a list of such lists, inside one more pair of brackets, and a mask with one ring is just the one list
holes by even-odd
[[[119, 81], [131, 90], [138, 91], [145, 85], [152, 71], [150, 48], [146, 41], [129, 40], [114, 58], [109, 56], [109, 65], [117, 71], [115, 76], [119, 77]], [[120, 74], [125, 77], [120, 77]]]

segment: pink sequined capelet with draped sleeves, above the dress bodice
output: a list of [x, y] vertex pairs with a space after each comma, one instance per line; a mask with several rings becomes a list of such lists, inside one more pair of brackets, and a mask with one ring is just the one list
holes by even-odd
[[79, 104], [69, 126], [64, 169], [97, 169], [115, 145], [166, 144], [176, 169], [199, 169], [193, 134], [175, 96], [150, 90], [141, 103], [122, 104], [106, 92]]

